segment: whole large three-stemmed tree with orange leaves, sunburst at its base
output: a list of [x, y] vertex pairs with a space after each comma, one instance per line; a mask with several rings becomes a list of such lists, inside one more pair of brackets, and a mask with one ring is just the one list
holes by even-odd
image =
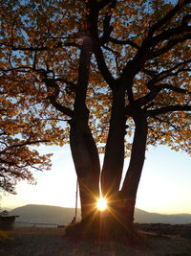
[[190, 153], [189, 1], [7, 1], [3, 10], [3, 87], [37, 105], [39, 124], [46, 112], [58, 141], [70, 134], [82, 221], [68, 233], [98, 236], [100, 182], [101, 234], [128, 239], [147, 145]]

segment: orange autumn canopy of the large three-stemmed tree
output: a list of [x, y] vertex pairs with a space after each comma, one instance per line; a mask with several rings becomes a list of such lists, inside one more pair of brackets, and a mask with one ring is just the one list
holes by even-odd
[[2, 85], [11, 97], [14, 90], [17, 97], [27, 95], [52, 118], [64, 114], [70, 119], [82, 40], [88, 40], [86, 27], [92, 26], [95, 45], [86, 104], [97, 141], [106, 139], [114, 83], [125, 81], [126, 105], [133, 102], [147, 110], [148, 144], [189, 151], [188, 2], [90, 1], [89, 6], [98, 6], [98, 15], [94, 18], [91, 11], [88, 21], [91, 7], [84, 1], [3, 1]]

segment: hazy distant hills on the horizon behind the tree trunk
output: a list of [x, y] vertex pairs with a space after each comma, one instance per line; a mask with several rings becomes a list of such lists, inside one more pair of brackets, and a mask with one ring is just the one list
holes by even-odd
[[[78, 209], [77, 219], [80, 219], [80, 209]], [[11, 211], [11, 215], [18, 215], [16, 221], [26, 221], [35, 223], [55, 223], [59, 225], [67, 225], [74, 218], [74, 208], [65, 208], [50, 205], [29, 204], [15, 208]], [[183, 224], [191, 223], [191, 215], [189, 214], [174, 214], [162, 215], [149, 213], [136, 208], [135, 222], [140, 223], [172, 223]]]

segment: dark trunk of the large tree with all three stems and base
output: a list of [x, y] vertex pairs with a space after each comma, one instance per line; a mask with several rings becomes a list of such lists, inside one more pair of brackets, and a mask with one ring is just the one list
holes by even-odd
[[[87, 40], [87, 39], [86, 39]], [[91, 42], [85, 41], [79, 61], [78, 82], [75, 91], [74, 117], [70, 122], [70, 143], [74, 166], [79, 182], [82, 221], [67, 230], [77, 239], [134, 240], [133, 217], [138, 182], [144, 162], [147, 123], [144, 112], [131, 109], [135, 122], [135, 137], [129, 169], [122, 190], [119, 185], [124, 161], [125, 89], [118, 86], [113, 91], [113, 106], [105, 158], [101, 173], [103, 197], [108, 198], [108, 209], [96, 210], [99, 197], [100, 167], [96, 143], [88, 126], [89, 110], [86, 93], [91, 58]], [[122, 234], [122, 238], [121, 238]]]

